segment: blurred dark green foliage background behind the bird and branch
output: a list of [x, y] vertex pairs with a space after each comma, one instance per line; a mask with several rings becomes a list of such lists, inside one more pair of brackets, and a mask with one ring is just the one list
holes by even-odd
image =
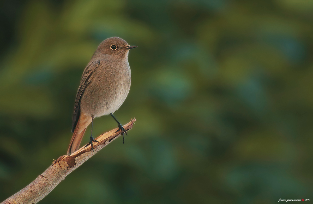
[[[115, 112], [136, 124], [39, 203], [313, 199], [313, 1], [0, 5], [1, 201], [66, 154], [80, 77], [112, 36], [138, 46]], [[116, 127], [97, 118], [94, 136]]]

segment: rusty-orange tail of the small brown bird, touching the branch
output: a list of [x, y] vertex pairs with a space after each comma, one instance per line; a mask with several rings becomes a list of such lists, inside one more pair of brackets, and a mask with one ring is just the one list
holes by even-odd
[[67, 150], [67, 155], [70, 155], [79, 149], [79, 146], [85, 134], [86, 128], [88, 127], [90, 123], [91, 123], [91, 116], [88, 117], [86, 115], [80, 114], [80, 118], [78, 119], [72, 139], [69, 143], [69, 149]]

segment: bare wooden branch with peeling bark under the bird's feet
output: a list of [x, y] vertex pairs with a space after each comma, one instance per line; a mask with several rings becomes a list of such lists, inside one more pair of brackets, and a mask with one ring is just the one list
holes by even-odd
[[[127, 123], [123, 127], [126, 131], [130, 130], [136, 119], [131, 119], [131, 122]], [[99, 142], [94, 143], [95, 154], [112, 142], [114, 139], [121, 135], [121, 131], [115, 133], [117, 128], [106, 132], [96, 140]], [[64, 155], [59, 157], [59, 159], [54, 160], [53, 164], [49, 166], [47, 170], [39, 175], [33, 182], [22, 190], [15, 193], [13, 196], [9, 197], [7, 200], [3, 201], [2, 204], [32, 204], [37, 203], [45, 196], [47, 196], [62, 180], [65, 179], [69, 173], [77, 169], [81, 164], [94, 155], [91, 150], [91, 146], [80, 148], [71, 155]]]

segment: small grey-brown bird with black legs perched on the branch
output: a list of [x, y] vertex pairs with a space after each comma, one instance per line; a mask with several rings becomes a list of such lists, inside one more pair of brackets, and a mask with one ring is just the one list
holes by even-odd
[[[72, 123], [72, 139], [67, 154], [79, 149], [86, 128], [91, 123], [90, 142], [97, 142], [92, 137], [93, 120], [103, 115], [112, 115], [125, 101], [131, 87], [131, 69], [128, 64], [128, 52], [137, 46], [130, 46], [125, 40], [112, 37], [100, 43], [86, 66], [77, 91]], [[118, 123], [124, 132], [121, 123]], [[116, 131], [116, 132], [117, 132]], [[127, 135], [127, 133], [126, 133]], [[88, 146], [87, 144], [86, 146]], [[86, 147], [85, 146], [85, 147]]]

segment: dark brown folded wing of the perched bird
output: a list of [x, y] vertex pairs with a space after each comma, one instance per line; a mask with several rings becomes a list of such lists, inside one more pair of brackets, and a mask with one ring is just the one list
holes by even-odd
[[75, 127], [77, 125], [79, 116], [80, 116], [80, 100], [84, 94], [84, 91], [88, 84], [90, 83], [93, 73], [99, 67], [100, 61], [90, 62], [84, 70], [83, 76], [80, 80], [80, 86], [78, 88], [75, 105], [74, 105], [74, 114], [73, 114], [73, 122], [72, 122], [72, 133], [74, 133]]

